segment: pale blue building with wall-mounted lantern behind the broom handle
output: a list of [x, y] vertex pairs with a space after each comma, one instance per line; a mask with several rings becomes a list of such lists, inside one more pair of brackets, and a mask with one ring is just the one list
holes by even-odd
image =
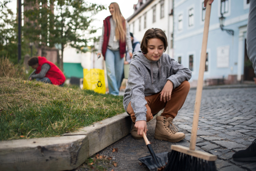
[[[249, 0], [212, 3], [204, 80], [224, 77], [225, 84], [235, 84], [255, 77], [246, 50], [249, 6]], [[174, 0], [174, 58], [192, 71], [192, 86], [198, 79], [204, 17], [204, 0]]]

